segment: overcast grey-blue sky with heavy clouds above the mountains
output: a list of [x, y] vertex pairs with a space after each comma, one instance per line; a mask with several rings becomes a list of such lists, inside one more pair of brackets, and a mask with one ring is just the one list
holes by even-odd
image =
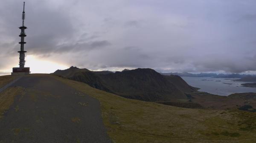
[[[18, 66], [22, 5], [1, 0], [0, 72]], [[63, 68], [256, 71], [256, 0], [26, 0], [25, 11], [26, 55]]]

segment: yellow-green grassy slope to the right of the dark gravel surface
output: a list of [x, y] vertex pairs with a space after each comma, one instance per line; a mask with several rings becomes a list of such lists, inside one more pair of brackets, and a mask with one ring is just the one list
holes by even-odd
[[52, 76], [101, 103], [114, 143], [255, 143], [256, 114], [186, 109], [122, 98], [87, 84]]

